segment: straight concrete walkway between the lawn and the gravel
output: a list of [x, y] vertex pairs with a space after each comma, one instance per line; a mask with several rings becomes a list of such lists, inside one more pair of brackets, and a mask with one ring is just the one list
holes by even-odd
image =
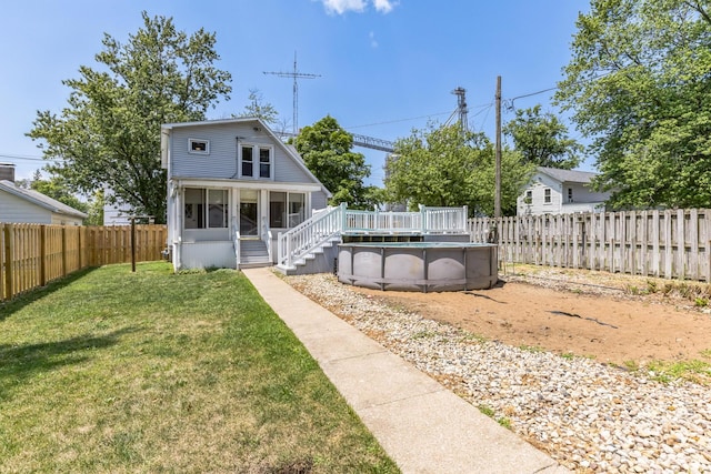
[[569, 472], [269, 269], [244, 269], [403, 473]]

